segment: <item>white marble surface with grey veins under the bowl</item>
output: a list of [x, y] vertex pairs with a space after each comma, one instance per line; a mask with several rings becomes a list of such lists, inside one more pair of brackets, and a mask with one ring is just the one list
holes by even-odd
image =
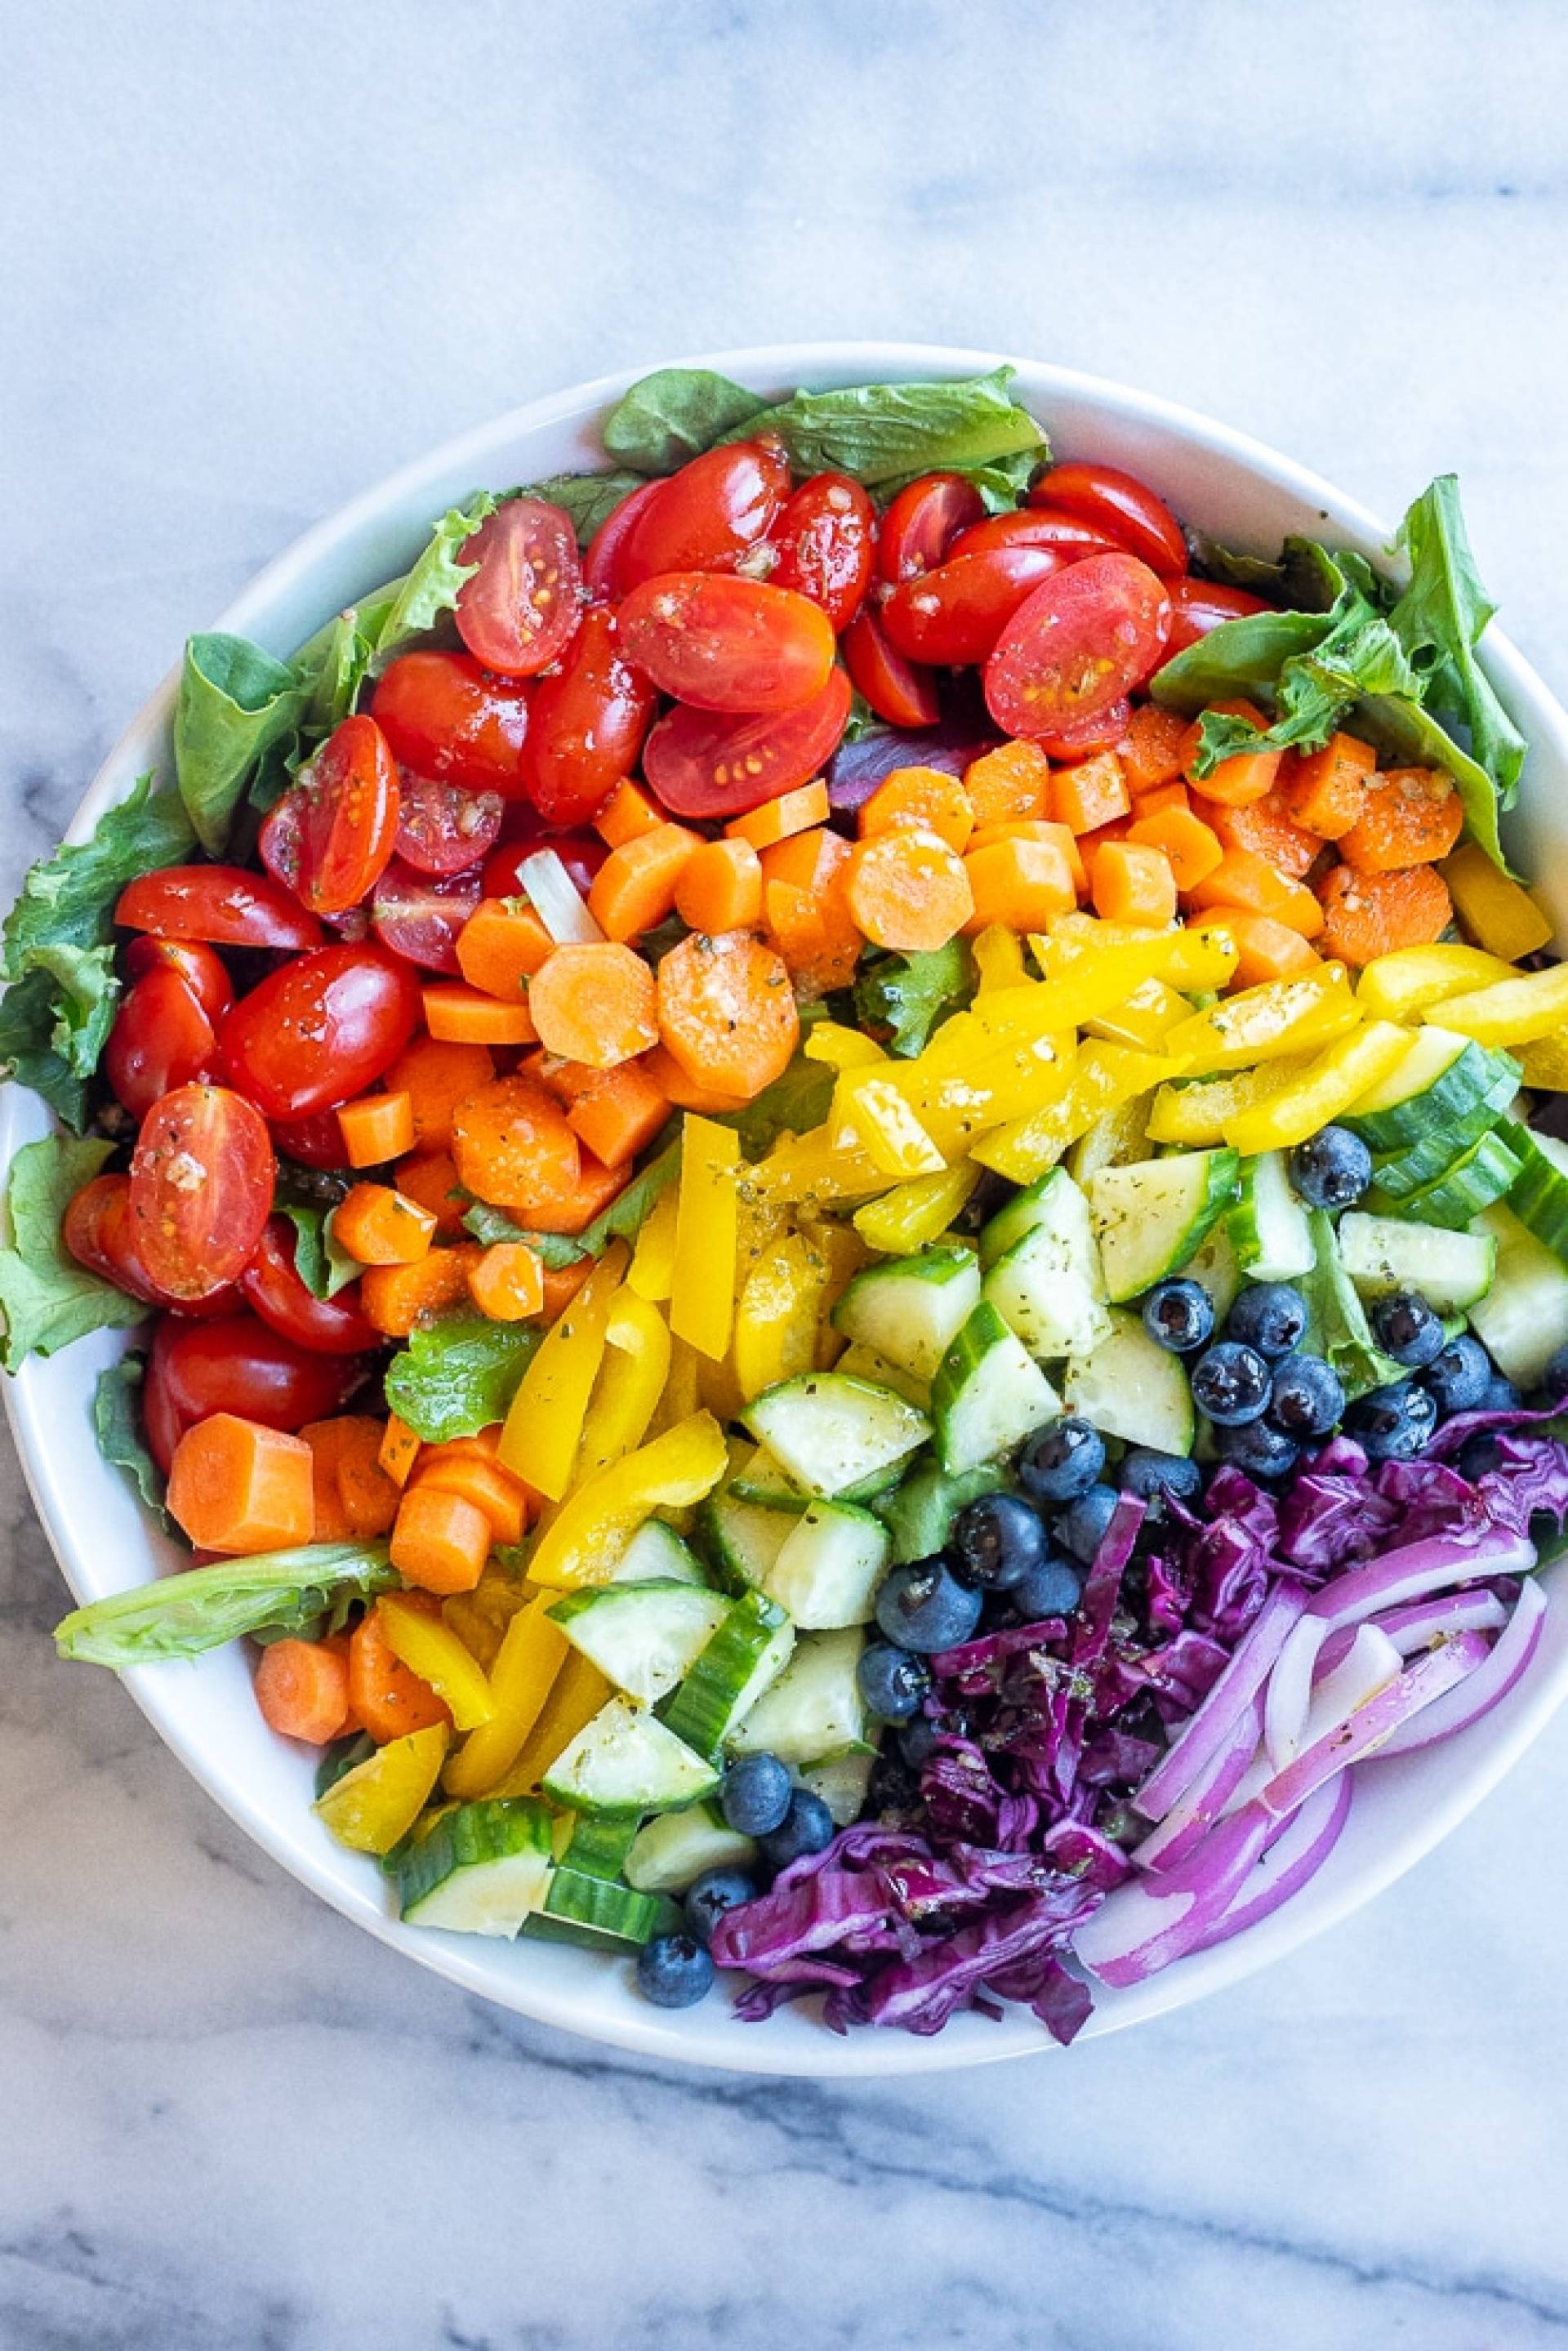
[[[1013, 346], [1382, 513], [1443, 465], [1568, 689], [1552, 0], [12, 12], [0, 884], [179, 637], [428, 442], [637, 360]], [[1568, 2342], [1568, 1716], [1220, 2003], [919, 2085], [534, 2029], [306, 1897], [108, 1676], [0, 1460], [5, 2351]]]

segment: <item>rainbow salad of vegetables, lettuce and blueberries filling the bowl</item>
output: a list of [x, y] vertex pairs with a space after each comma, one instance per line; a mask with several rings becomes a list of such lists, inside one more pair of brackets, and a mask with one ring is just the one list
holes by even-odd
[[5, 1366], [129, 1335], [176, 1561], [61, 1655], [249, 1643], [409, 1928], [736, 2031], [1070, 2041], [1547, 1629], [1568, 966], [1458, 489], [1239, 550], [1051, 423], [649, 376], [193, 637], [5, 924]]

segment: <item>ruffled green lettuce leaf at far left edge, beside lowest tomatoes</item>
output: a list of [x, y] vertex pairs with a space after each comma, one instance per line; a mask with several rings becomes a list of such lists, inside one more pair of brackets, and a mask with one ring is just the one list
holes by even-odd
[[19, 1371], [31, 1354], [56, 1354], [89, 1331], [127, 1331], [146, 1307], [99, 1281], [66, 1253], [61, 1218], [68, 1201], [103, 1171], [113, 1143], [47, 1136], [12, 1159], [5, 1192], [12, 1239], [0, 1248], [0, 1364]]

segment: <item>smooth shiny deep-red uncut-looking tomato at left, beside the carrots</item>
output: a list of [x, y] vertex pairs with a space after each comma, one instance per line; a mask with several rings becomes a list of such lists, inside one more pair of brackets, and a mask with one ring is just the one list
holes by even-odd
[[374, 1086], [414, 1034], [418, 1011], [418, 980], [397, 957], [317, 947], [240, 997], [219, 1034], [219, 1058], [230, 1086], [268, 1119], [308, 1119]]

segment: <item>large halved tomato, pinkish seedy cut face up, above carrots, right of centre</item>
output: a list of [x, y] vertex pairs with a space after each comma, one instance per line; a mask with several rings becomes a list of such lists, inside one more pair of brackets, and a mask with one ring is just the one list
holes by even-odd
[[985, 705], [1004, 734], [1060, 736], [1147, 677], [1168, 628], [1166, 590], [1135, 555], [1067, 564], [1001, 630]]

